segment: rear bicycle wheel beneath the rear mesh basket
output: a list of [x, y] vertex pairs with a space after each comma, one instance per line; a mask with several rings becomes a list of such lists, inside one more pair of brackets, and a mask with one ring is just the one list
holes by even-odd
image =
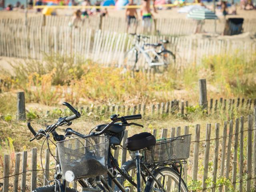
[[[162, 184], [166, 192], [178, 192], [179, 191], [179, 175], [170, 167], [160, 167], [154, 170], [153, 175]], [[157, 182], [149, 177], [147, 181], [145, 192], [161, 192], [162, 189], [158, 186]], [[180, 192], [186, 192], [187, 187], [183, 180], [180, 184]]]

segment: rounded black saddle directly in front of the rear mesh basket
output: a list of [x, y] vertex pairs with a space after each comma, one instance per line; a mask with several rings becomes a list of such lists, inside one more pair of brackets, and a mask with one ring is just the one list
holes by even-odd
[[128, 137], [125, 141], [125, 146], [130, 151], [149, 148], [150, 146], [153, 146], [155, 144], [156, 144], [155, 136], [148, 132], [135, 134], [131, 137]]

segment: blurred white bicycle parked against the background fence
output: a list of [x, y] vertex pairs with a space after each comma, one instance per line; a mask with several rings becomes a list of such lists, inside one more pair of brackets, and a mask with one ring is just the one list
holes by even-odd
[[[146, 44], [145, 41], [148, 36], [142, 36], [137, 34], [131, 34], [136, 36], [135, 43], [132, 48], [124, 56], [124, 64], [127, 68], [131, 70], [138, 70], [138, 59], [142, 55], [142, 65], [144, 64], [144, 69], [148, 70], [154, 68], [156, 72], [164, 72], [168, 65], [175, 64], [175, 54], [165, 48], [165, 44], [169, 43], [168, 40], [161, 40], [160, 43]], [[140, 45], [141, 38], [143, 40], [142, 45]], [[145, 49], [145, 46], [151, 46], [153, 48]], [[160, 47], [160, 50], [156, 50]]]

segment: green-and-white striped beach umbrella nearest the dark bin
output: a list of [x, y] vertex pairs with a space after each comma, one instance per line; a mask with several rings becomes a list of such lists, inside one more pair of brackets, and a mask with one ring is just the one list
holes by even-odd
[[218, 19], [216, 14], [207, 8], [192, 10], [187, 14], [187, 18], [195, 20]]

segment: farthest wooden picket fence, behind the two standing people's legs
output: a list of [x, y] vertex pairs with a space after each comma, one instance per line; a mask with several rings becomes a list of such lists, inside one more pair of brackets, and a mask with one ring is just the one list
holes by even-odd
[[[28, 18], [28, 26], [69, 26], [72, 16], [34, 16]], [[2, 19], [1, 24], [24, 24], [22, 19]], [[127, 22], [125, 18], [90, 16], [79, 24], [79, 27], [90, 28], [93, 30], [109, 30], [113, 32], [127, 32]], [[226, 26], [225, 19], [204, 20], [202, 32], [210, 34], [223, 34]], [[128, 32], [160, 35], [190, 35], [196, 32], [197, 21], [181, 18], [157, 18], [146, 31], [142, 27], [142, 21], [131, 21]], [[256, 19], [245, 19], [243, 32], [256, 32]]]

